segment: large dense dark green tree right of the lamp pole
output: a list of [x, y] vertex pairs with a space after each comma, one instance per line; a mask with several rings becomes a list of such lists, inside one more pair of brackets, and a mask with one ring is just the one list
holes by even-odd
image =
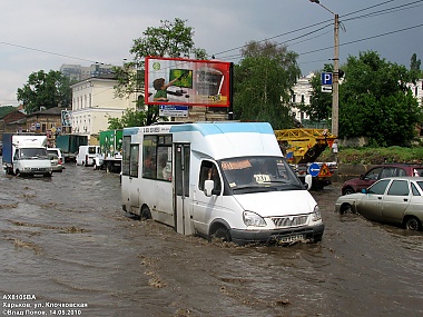
[[380, 146], [407, 145], [422, 111], [407, 83], [415, 75], [376, 52], [350, 57], [340, 86], [340, 136], [368, 137]]

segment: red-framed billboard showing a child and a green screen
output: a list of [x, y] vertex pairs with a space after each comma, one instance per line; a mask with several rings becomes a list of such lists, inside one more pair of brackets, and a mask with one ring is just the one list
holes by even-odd
[[230, 62], [146, 58], [146, 103], [229, 107]]

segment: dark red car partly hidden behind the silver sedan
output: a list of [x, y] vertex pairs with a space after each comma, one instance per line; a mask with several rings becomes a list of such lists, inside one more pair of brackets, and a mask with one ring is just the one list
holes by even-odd
[[342, 195], [361, 192], [381, 178], [393, 176], [423, 176], [423, 166], [406, 164], [384, 164], [375, 166], [366, 174], [345, 181], [342, 186]]

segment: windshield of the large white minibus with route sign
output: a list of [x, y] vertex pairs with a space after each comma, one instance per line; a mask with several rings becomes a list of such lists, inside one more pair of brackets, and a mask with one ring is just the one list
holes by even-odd
[[224, 159], [219, 164], [234, 191], [304, 189], [289, 165], [281, 157], [230, 158]]

